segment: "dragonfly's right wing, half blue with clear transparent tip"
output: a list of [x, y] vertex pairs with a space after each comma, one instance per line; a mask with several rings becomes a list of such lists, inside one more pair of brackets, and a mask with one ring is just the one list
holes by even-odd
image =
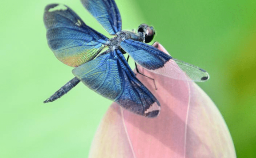
[[121, 42], [120, 46], [136, 63], [156, 74], [173, 79], [196, 82], [209, 79], [208, 73], [203, 69], [178, 59], [173, 59], [170, 55], [146, 43], [128, 39]]

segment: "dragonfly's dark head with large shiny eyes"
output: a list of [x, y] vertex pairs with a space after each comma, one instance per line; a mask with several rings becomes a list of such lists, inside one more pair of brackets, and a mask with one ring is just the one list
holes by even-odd
[[140, 24], [138, 28], [138, 34], [145, 43], [149, 43], [153, 40], [156, 32], [152, 26], [148, 26], [147, 24]]

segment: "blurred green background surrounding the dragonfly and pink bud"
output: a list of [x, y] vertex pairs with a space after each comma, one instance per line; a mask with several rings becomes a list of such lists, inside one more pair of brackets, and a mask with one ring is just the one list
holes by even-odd
[[[43, 104], [73, 78], [48, 48], [44, 7], [63, 3], [106, 35], [79, 0], [0, 2], [0, 158], [87, 158], [111, 101], [83, 84]], [[256, 157], [256, 0], [116, 0], [123, 29], [153, 25], [180, 60], [204, 68], [238, 158]]]

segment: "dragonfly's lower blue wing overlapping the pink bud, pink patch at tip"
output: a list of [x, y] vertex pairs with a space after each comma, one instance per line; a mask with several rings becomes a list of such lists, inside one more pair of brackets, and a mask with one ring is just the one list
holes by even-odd
[[119, 56], [122, 53], [117, 51], [101, 55], [72, 72], [87, 87], [125, 109], [138, 115], [156, 117], [160, 112], [160, 103], [132, 74], [128, 63], [124, 63], [126, 60]]

